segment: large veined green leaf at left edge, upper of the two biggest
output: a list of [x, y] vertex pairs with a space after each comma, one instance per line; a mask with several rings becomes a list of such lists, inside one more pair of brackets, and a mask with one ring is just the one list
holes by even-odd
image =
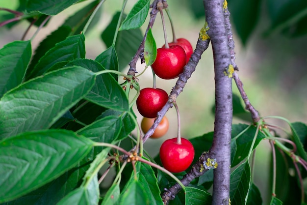
[[57, 70], [28, 81], [0, 100], [0, 139], [51, 125], [92, 88], [95, 75], [82, 67]]

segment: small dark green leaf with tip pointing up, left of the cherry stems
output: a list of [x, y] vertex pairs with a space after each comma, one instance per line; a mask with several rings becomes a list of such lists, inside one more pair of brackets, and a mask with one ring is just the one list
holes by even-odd
[[[95, 60], [102, 64], [105, 69], [118, 70], [118, 59], [114, 46], [111, 46], [103, 51], [99, 56], [96, 57]], [[116, 74], [111, 75], [115, 80], [117, 80]]]

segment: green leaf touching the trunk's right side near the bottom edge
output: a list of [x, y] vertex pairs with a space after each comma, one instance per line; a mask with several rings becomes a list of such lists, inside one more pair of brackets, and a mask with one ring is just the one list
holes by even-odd
[[230, 175], [231, 205], [245, 205], [251, 181], [251, 168], [247, 162], [241, 164]]

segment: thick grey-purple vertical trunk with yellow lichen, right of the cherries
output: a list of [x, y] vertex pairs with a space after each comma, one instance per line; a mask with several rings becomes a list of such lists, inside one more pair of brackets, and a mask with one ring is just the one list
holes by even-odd
[[[210, 152], [218, 163], [214, 170], [212, 205], [230, 202], [230, 141], [232, 123], [232, 89], [230, 48], [224, 18], [224, 0], [204, 0], [215, 73], [214, 137]], [[233, 68], [233, 67], [232, 67]]]

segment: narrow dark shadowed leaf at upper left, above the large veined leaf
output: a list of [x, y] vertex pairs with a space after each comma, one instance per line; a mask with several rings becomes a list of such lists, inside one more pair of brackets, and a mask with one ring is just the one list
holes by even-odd
[[39, 44], [35, 50], [35, 55], [33, 56], [31, 63], [26, 71], [26, 78], [28, 77], [28, 74], [32, 72], [39, 59], [41, 59], [51, 48], [53, 48], [55, 44], [64, 41], [70, 32], [70, 27], [61, 26], [57, 30], [53, 31]]

